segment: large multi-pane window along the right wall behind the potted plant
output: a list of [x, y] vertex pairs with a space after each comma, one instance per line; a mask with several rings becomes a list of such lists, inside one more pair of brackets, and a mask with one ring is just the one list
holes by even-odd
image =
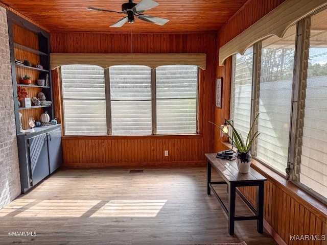
[[[272, 36], [256, 43], [253, 65], [251, 49], [243, 56], [234, 55], [231, 88], [231, 116], [237, 130], [248, 132], [249, 118], [260, 113], [256, 122], [260, 136], [252, 145], [252, 156], [324, 203], [326, 15], [327, 9], [322, 10], [300, 20], [282, 38]], [[252, 67], [256, 68], [253, 78]], [[251, 101], [254, 108], [249, 110]]]

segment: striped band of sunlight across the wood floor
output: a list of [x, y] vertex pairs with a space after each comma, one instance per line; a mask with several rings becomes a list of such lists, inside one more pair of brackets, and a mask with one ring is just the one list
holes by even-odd
[[[101, 204], [100, 204], [101, 202]], [[0, 217], [155, 217], [167, 200], [27, 200], [0, 210]], [[98, 205], [99, 204], [99, 205]]]

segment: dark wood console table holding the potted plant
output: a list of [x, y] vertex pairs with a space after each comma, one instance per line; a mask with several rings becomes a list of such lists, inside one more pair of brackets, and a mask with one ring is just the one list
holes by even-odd
[[[235, 160], [229, 161], [226, 159], [217, 158], [215, 153], [205, 154], [207, 159], [207, 194], [211, 193], [211, 190], [215, 194], [216, 198], [220, 202], [224, 211], [228, 215], [228, 232], [230, 235], [234, 234], [234, 222], [235, 220], [250, 220], [256, 219], [256, 230], [259, 233], [263, 233], [263, 219], [264, 219], [264, 183], [267, 180], [264, 176], [259, 174], [253, 168], [250, 168], [249, 173], [239, 173], [237, 163]], [[214, 167], [218, 174], [224, 181], [211, 181], [211, 170]], [[213, 185], [227, 184], [228, 185], [228, 209], [223, 204], [218, 193], [213, 188]], [[249, 203], [243, 194], [237, 189], [239, 186], [256, 186], [256, 208]], [[245, 204], [253, 211], [253, 216], [235, 216], [235, 201], [236, 193]]]

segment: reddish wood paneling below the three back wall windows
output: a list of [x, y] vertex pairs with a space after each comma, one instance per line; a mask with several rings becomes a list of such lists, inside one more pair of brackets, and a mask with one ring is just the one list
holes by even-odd
[[199, 165], [203, 164], [202, 144], [201, 135], [62, 138], [67, 167]]

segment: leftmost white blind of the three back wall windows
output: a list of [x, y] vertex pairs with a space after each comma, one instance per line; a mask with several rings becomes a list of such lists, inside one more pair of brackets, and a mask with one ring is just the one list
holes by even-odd
[[106, 135], [104, 69], [61, 66], [65, 135]]

